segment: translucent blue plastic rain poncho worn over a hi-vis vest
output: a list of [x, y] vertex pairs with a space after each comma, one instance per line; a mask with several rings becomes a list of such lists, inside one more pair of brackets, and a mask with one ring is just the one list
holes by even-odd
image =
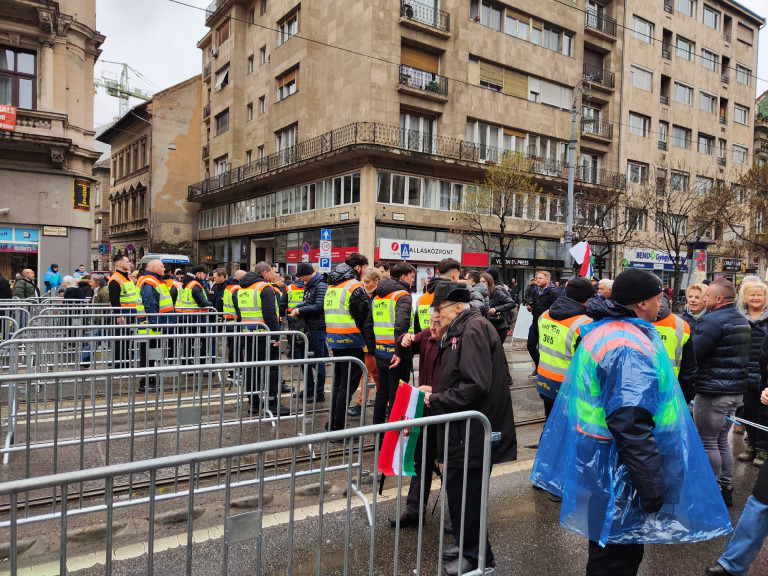
[[[720, 489], [654, 327], [614, 313], [581, 331], [531, 472], [534, 484], [563, 498], [560, 523], [602, 546], [696, 542], [730, 532]], [[627, 413], [646, 415], [645, 441], [615, 421], [614, 414]], [[654, 486], [664, 504], [649, 514], [641, 494], [648, 497]]]

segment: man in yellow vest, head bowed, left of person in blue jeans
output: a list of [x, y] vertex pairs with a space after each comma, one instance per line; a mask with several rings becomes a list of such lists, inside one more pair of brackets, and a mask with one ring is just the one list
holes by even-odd
[[[243, 327], [244, 332], [259, 332], [263, 326], [275, 332], [280, 330], [277, 299], [271, 282], [275, 271], [266, 262], [259, 262], [253, 272], [246, 272], [240, 280], [240, 290], [237, 292], [238, 320], [253, 327]], [[254, 336], [244, 342], [246, 362], [279, 360], [280, 340], [276, 341], [266, 336]], [[280, 387], [278, 383], [278, 368], [276, 366], [245, 371], [245, 388], [250, 399], [250, 413], [257, 412], [259, 393], [267, 395], [267, 406], [270, 412], [287, 416], [290, 410], [279, 401]], [[265, 389], [266, 388], [266, 389]]]

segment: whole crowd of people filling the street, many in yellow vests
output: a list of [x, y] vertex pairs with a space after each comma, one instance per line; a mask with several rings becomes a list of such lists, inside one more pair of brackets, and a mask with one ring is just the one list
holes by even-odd
[[[692, 284], [684, 310], [674, 314], [660, 280], [637, 269], [615, 281], [576, 278], [562, 285], [541, 270], [521, 295], [497, 269], [464, 271], [450, 258], [439, 262], [422, 293], [415, 290], [411, 264], [369, 267], [357, 252], [329, 274], [300, 263], [295, 278], [266, 262], [231, 276], [203, 266], [166, 270], [160, 260], [136, 276], [127, 257], [113, 264], [108, 278], [89, 275], [84, 266], [61, 277], [54, 264], [45, 286], [65, 298], [109, 304], [124, 313], [123, 323], [143, 323], [150, 334], [212, 310], [246, 332], [264, 326], [304, 332], [313, 358], [359, 360], [335, 366], [328, 430], [343, 429], [367, 404], [361, 365], [377, 388], [373, 423], [386, 422], [398, 385], [414, 379], [418, 355], [418, 382], [412, 383], [424, 392], [425, 414], [485, 414], [500, 433], [492, 464], [517, 454], [504, 342], [523, 305], [532, 317], [531, 377], [547, 418], [531, 479], [561, 503], [561, 524], [589, 540], [588, 576], [637, 574], [646, 543], [692, 542], [730, 531], [734, 417], [746, 424], [734, 430], [746, 443], [738, 459], [761, 470], [728, 548], [706, 573], [746, 574], [768, 534], [768, 286], [757, 277], [745, 278], [738, 293], [723, 279]], [[24, 270], [13, 293], [29, 297], [37, 294], [34, 288], [34, 272]], [[230, 360], [232, 352], [230, 344]], [[280, 342], [260, 339], [242, 354], [276, 360]], [[305, 369], [306, 384], [294, 397], [325, 402], [325, 363]], [[290, 387], [277, 381], [276, 370], [267, 369], [265, 382], [268, 409], [288, 414], [280, 395]], [[140, 388], [154, 390], [151, 378]], [[244, 394], [252, 409], [264, 400], [255, 378], [247, 379]], [[444, 455], [451, 524], [464, 534], [461, 556], [458, 542], [444, 549], [449, 576], [474, 569], [481, 546], [486, 565], [495, 565], [490, 539], [479, 541], [483, 446], [481, 430], [472, 426], [467, 446], [463, 435], [444, 446], [439, 432], [420, 443], [405, 511], [389, 519], [399, 527], [418, 523], [436, 460]], [[426, 493], [422, 474], [429, 476]]]

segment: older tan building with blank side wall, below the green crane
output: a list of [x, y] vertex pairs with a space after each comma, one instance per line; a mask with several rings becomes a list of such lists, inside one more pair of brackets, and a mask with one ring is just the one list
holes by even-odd
[[199, 162], [201, 86], [195, 76], [158, 92], [98, 136], [111, 146], [101, 243], [113, 254], [138, 262], [149, 252], [192, 253], [197, 206], [185, 198], [188, 167]]

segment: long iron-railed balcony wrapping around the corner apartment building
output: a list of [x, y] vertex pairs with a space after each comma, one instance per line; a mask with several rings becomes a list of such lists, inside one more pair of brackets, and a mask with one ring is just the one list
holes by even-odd
[[[611, 126], [611, 134], [612, 129]], [[504, 154], [510, 153], [503, 148], [482, 146], [456, 138], [406, 130], [398, 126], [375, 122], [356, 122], [280, 150], [250, 164], [233, 168], [222, 174], [206, 178], [202, 182], [192, 184], [188, 189], [188, 199], [200, 201], [202, 196], [238, 185], [253, 183], [257, 179], [283, 171], [289, 166], [318, 159], [321, 156], [327, 157], [333, 152], [351, 152], [355, 149], [367, 150], [372, 147], [379, 151], [389, 148], [400, 153], [419, 153], [421, 157], [425, 154], [431, 155], [436, 160], [452, 159], [478, 164], [499, 162], [503, 159]], [[528, 170], [531, 173], [567, 181], [567, 162], [533, 154], [527, 154], [525, 157], [530, 161]], [[581, 168], [577, 168], [577, 170], [581, 170]], [[595, 183], [599, 183], [601, 186], [624, 188], [626, 185], [623, 174], [607, 170], [599, 170], [597, 174], [599, 175], [598, 182]]]

